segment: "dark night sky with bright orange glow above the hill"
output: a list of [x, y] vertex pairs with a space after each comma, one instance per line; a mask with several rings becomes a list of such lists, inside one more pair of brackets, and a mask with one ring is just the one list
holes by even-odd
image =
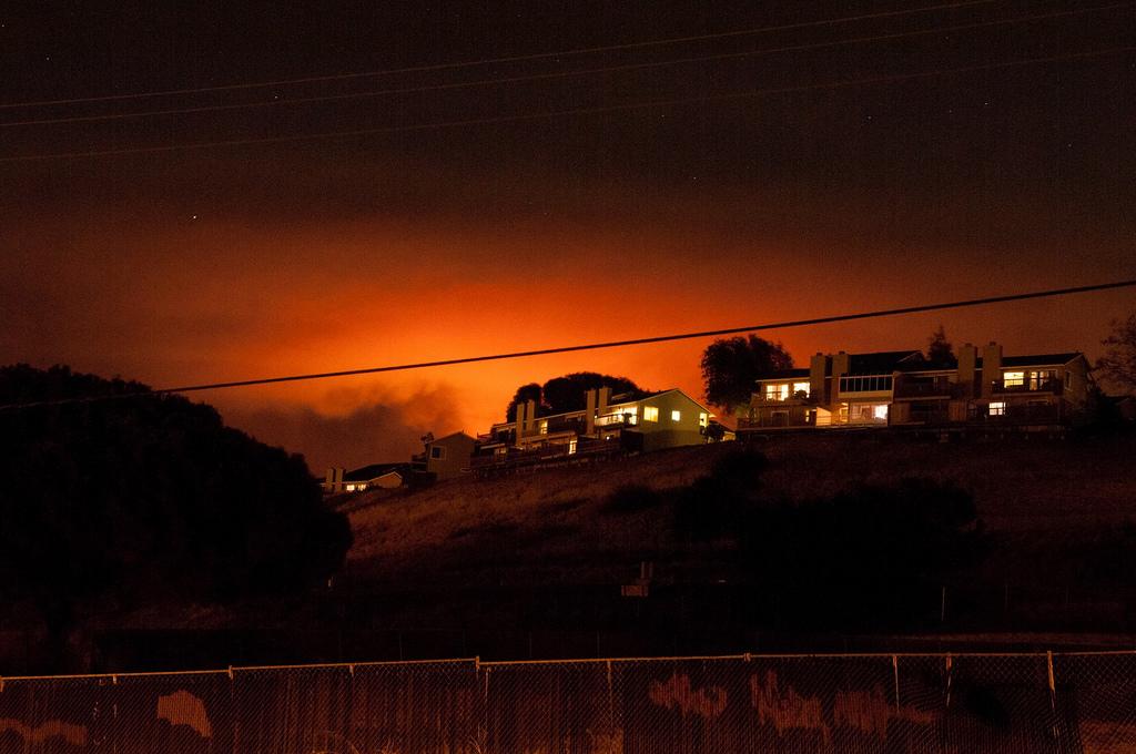
[[[166, 5], [5, 3], [0, 104], [433, 69], [2, 107], [0, 363], [160, 387], [1136, 271], [1136, 53], [1117, 51], [1136, 3]], [[1041, 58], [1066, 59], [1004, 65]], [[376, 133], [270, 141], [358, 131]], [[264, 143], [27, 159], [229, 141]], [[1092, 358], [1133, 310], [1120, 291], [771, 337], [807, 363], [919, 347], [942, 322], [955, 343]], [[698, 396], [705, 345], [199, 397], [319, 472], [403, 459], [427, 429], [484, 432], [519, 384], [568, 371]]]

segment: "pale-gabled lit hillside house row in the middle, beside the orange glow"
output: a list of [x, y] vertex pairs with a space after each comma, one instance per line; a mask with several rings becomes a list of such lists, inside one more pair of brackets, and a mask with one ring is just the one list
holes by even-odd
[[535, 401], [517, 405], [516, 421], [503, 421], [478, 436], [474, 468], [518, 458], [570, 456], [608, 451], [655, 451], [700, 445], [713, 416], [678, 388], [612, 395], [610, 387], [586, 393], [579, 411], [538, 416]]

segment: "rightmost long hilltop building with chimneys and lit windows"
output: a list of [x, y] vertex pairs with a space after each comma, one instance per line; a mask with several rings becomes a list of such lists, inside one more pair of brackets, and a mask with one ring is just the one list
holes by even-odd
[[738, 432], [838, 427], [1053, 429], [1088, 397], [1089, 366], [1078, 352], [1005, 355], [967, 343], [933, 362], [921, 351], [818, 353], [807, 369], [758, 378]]

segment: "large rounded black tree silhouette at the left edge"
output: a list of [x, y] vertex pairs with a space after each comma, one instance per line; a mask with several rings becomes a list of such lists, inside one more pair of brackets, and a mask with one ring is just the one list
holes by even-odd
[[[137, 383], [0, 368], [0, 597], [58, 642], [87, 601], [130, 610], [323, 583], [351, 543], [303, 458]], [[108, 397], [143, 393], [135, 397]], [[98, 397], [75, 403], [59, 399]], [[62, 646], [62, 645], [60, 645]]]

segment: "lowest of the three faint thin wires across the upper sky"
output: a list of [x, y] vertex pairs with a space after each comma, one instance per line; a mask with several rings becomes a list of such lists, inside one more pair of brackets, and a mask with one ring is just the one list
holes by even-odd
[[95, 157], [118, 157], [123, 154], [152, 154], [160, 152], [187, 151], [197, 149], [216, 149], [223, 146], [249, 146], [253, 144], [283, 144], [300, 141], [312, 141], [319, 139], [346, 139], [351, 136], [368, 136], [377, 134], [395, 134], [416, 131], [432, 131], [435, 128], [457, 128], [463, 126], [483, 126], [502, 123], [519, 123], [524, 120], [543, 120], [575, 115], [601, 115], [604, 112], [621, 112], [629, 110], [645, 110], [659, 107], [676, 107], [683, 104], [701, 104], [707, 102], [727, 102], [746, 100], [772, 94], [792, 94], [797, 92], [810, 92], [818, 90], [844, 89], [847, 86], [863, 86], [874, 84], [893, 84], [919, 78], [933, 78], [936, 76], [950, 76], [954, 74], [972, 73], [977, 70], [995, 70], [1002, 68], [1017, 68], [1021, 66], [1033, 66], [1046, 62], [1058, 62], [1062, 60], [1078, 60], [1095, 58], [1118, 52], [1136, 51], [1136, 45], [1104, 48], [1101, 50], [1089, 50], [1086, 52], [1074, 52], [1068, 55], [1055, 55], [1044, 58], [1027, 58], [1022, 60], [1009, 60], [1005, 62], [983, 64], [977, 66], [964, 66], [961, 68], [941, 68], [936, 70], [924, 70], [913, 74], [895, 74], [888, 76], [874, 76], [869, 78], [854, 78], [842, 82], [826, 82], [819, 84], [802, 84], [797, 86], [777, 86], [770, 89], [758, 89], [747, 92], [734, 92], [729, 94], [710, 94], [705, 97], [690, 97], [667, 100], [648, 100], [643, 102], [628, 102], [624, 104], [599, 106], [594, 108], [571, 108], [566, 110], [548, 110], [544, 112], [529, 112], [519, 115], [490, 116], [485, 118], [465, 118], [459, 120], [441, 120], [434, 123], [409, 124], [403, 126], [385, 126], [381, 128], [357, 128], [351, 131], [326, 131], [311, 134], [293, 134], [289, 136], [267, 136], [257, 139], [232, 139], [214, 142], [193, 142], [187, 144], [161, 144], [156, 146], [132, 146], [124, 149], [90, 150], [82, 152], [51, 152], [47, 154], [19, 154], [15, 157], [0, 157], [3, 162], [32, 162], [42, 160], [78, 159]]

